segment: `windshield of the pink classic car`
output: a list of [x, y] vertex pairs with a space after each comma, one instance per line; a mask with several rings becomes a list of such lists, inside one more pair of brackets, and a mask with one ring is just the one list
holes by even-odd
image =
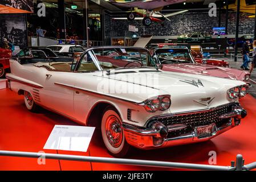
[[194, 63], [188, 49], [158, 49], [154, 57], [161, 64]]

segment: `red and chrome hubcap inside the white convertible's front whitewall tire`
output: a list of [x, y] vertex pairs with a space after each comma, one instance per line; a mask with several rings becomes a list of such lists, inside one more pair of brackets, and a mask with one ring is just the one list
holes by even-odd
[[108, 142], [112, 147], [119, 147], [122, 143], [123, 132], [121, 130], [121, 122], [115, 115], [110, 115], [105, 124], [105, 132]]

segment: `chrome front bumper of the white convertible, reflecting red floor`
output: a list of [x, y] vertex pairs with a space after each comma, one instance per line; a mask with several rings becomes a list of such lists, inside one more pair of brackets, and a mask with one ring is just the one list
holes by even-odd
[[[231, 111], [218, 116], [218, 118], [225, 119], [226, 122], [218, 127], [215, 123], [212, 123], [212, 133], [206, 137], [198, 137], [197, 127], [194, 127], [190, 133], [185, 133], [177, 137], [169, 137], [169, 135], [161, 137], [162, 135], [160, 132], [162, 131], [156, 127], [153, 127], [152, 129], [145, 129], [123, 123], [123, 129], [125, 138], [129, 144], [137, 148], [147, 150], [209, 140], [221, 133], [224, 133], [232, 127], [238, 126], [241, 119], [244, 117], [246, 117], [246, 110], [239, 105], [233, 106]], [[186, 126], [184, 124], [177, 123], [166, 127], [166, 129], [168, 130], [168, 133], [171, 133], [172, 131], [182, 130], [185, 127]]]

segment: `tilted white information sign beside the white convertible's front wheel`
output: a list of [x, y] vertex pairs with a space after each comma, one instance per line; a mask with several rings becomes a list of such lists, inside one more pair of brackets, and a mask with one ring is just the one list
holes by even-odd
[[55, 125], [44, 149], [86, 152], [95, 127]]

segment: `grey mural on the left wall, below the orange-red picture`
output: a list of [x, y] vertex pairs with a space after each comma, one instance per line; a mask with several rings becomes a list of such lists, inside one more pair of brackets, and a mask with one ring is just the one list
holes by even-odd
[[[4, 38], [20, 48], [27, 46], [27, 30], [24, 14], [0, 15], [0, 43]], [[0, 45], [1, 45], [0, 44]]]

